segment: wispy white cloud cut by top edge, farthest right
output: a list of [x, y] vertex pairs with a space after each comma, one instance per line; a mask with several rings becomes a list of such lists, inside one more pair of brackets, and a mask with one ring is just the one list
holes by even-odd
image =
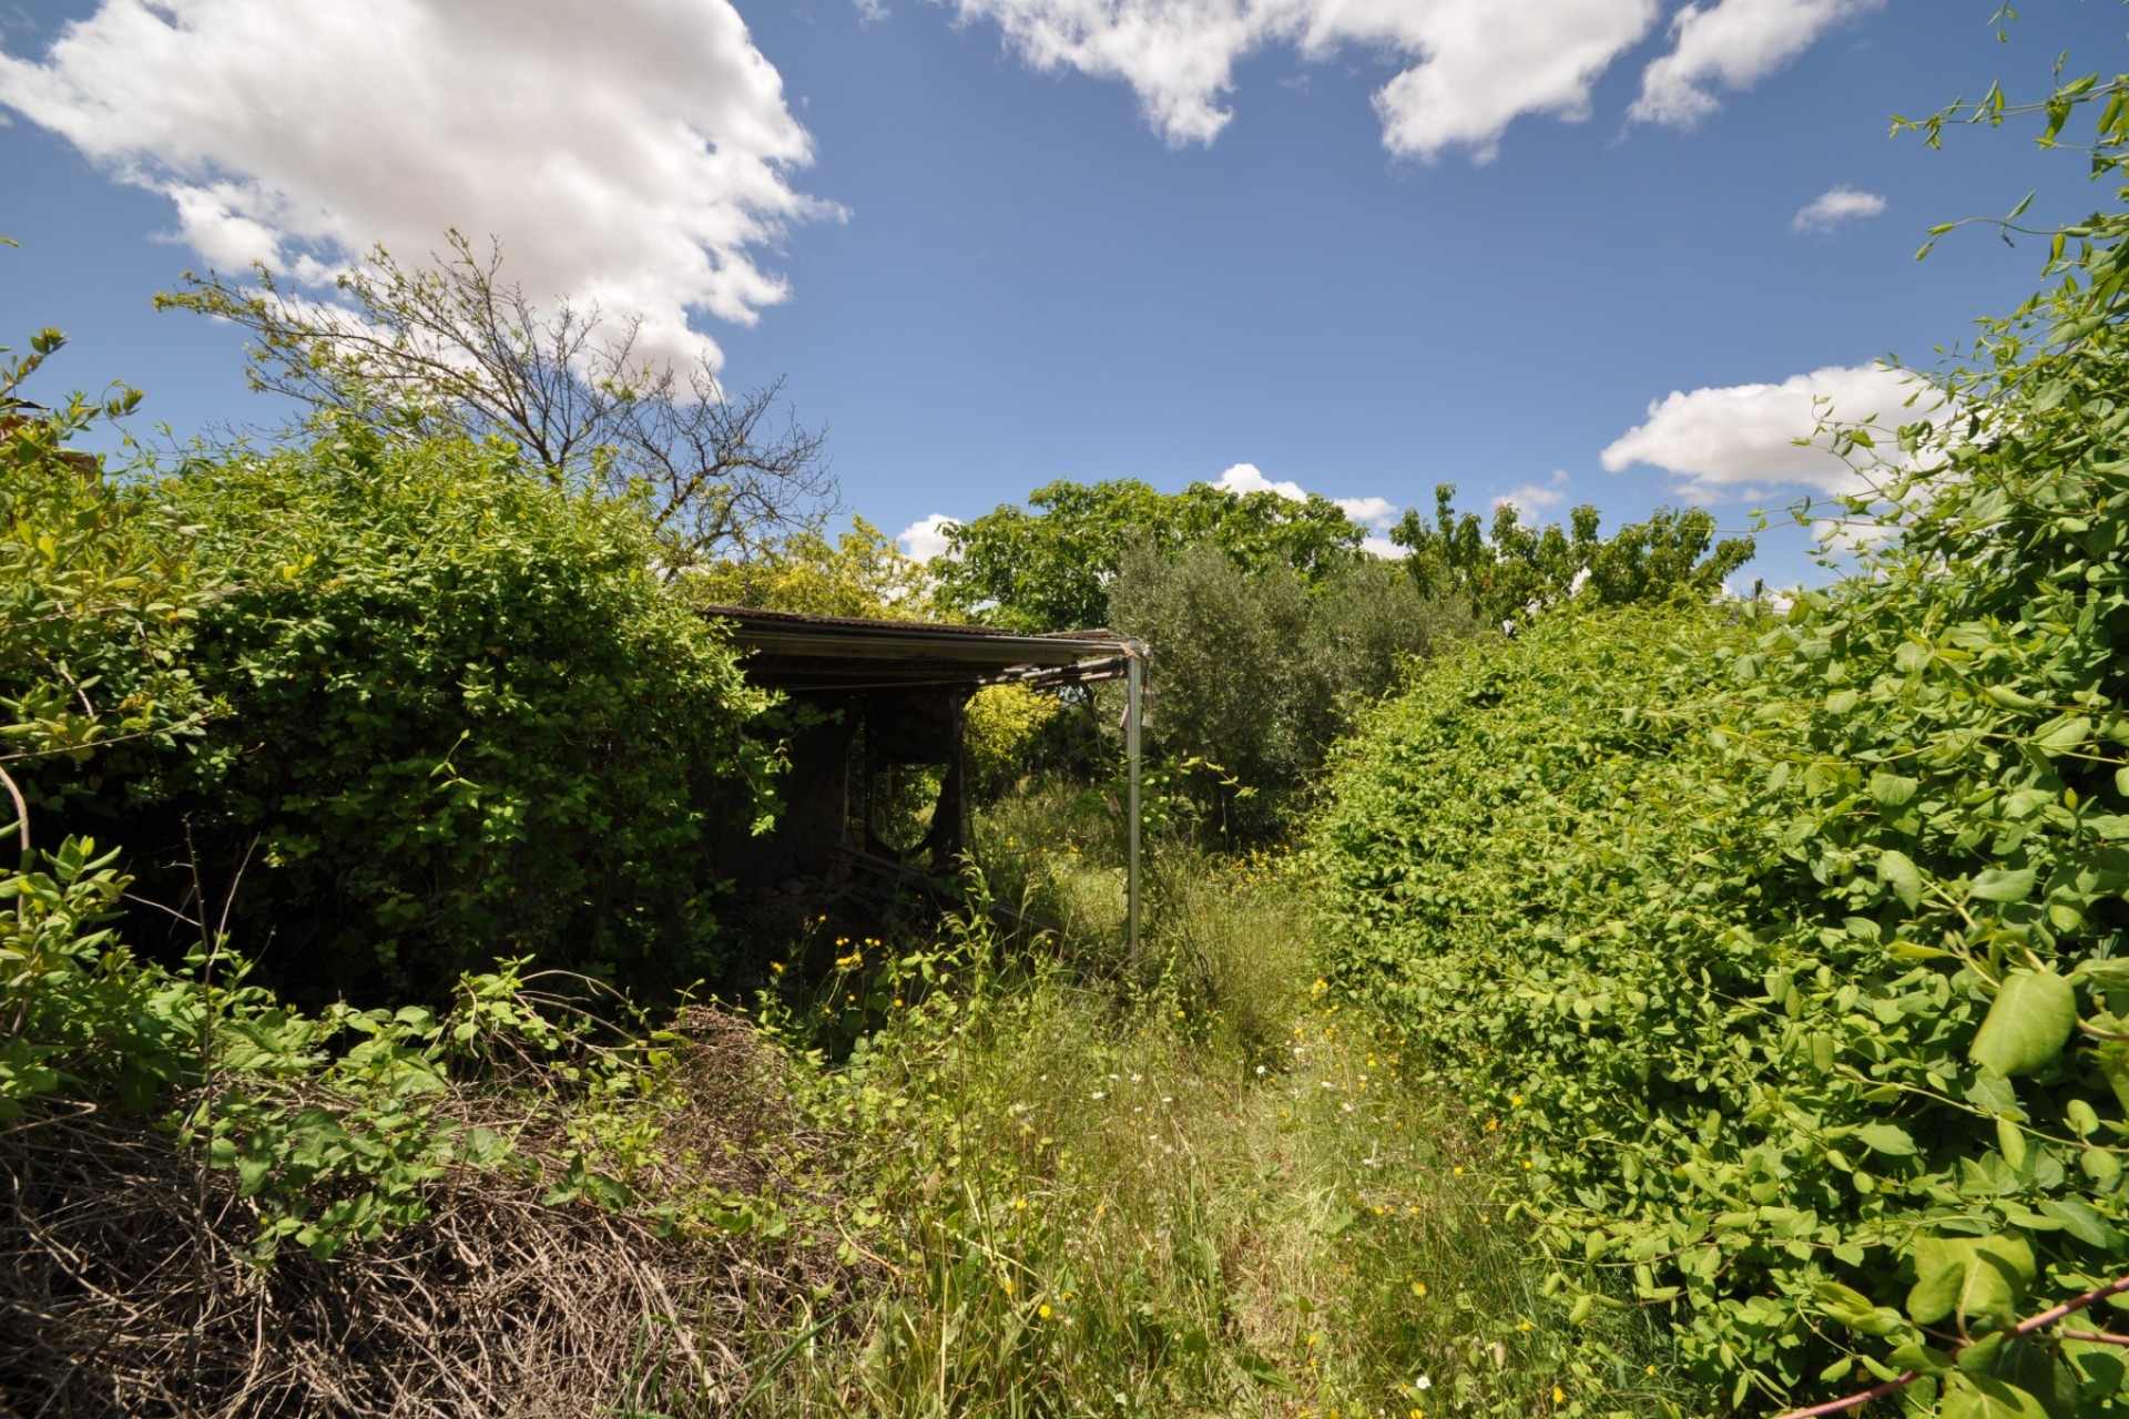
[[1876, 11], [1884, 0], [1714, 0], [1671, 19], [1671, 53], [1641, 70], [1641, 98], [1629, 117], [1690, 128], [1722, 104], [1710, 85], [1750, 89], [1782, 68], [1831, 26]]

